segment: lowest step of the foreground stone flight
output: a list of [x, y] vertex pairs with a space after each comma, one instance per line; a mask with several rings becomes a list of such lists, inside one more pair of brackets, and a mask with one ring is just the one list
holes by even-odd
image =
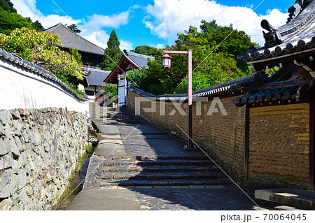
[[230, 180], [226, 178], [214, 179], [214, 180], [177, 180], [177, 179], [165, 179], [165, 180], [96, 180], [96, 183], [100, 187], [111, 186], [200, 186], [200, 185], [227, 185], [230, 184]]

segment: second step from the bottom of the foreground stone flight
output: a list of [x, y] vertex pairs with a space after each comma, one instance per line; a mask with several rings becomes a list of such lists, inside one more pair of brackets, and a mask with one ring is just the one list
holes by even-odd
[[164, 179], [221, 179], [226, 178], [221, 172], [163, 172], [163, 173], [104, 173], [103, 180], [164, 180]]

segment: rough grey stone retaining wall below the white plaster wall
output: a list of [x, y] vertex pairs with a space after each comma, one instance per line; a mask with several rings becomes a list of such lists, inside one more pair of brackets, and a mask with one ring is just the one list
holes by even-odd
[[0, 210], [51, 210], [86, 145], [82, 113], [0, 110]]

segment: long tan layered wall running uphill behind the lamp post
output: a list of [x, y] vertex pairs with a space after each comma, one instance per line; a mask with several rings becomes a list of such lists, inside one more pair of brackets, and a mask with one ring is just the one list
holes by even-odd
[[[186, 112], [186, 115], [181, 115], [172, 102], [151, 101], [141, 97], [142, 102], [136, 105], [137, 97], [141, 96], [128, 92], [129, 108], [137, 110], [136, 107], [140, 105], [138, 109], [142, 117], [176, 136], [187, 139], [185, 134], [188, 133], [187, 103], [181, 103], [181, 108]], [[193, 141], [207, 150], [235, 180], [239, 180], [244, 176], [245, 107], [237, 108], [231, 102], [232, 99], [235, 99], [235, 96], [220, 98], [226, 115], [221, 113], [216, 103], [214, 105], [218, 112], [208, 113], [214, 99], [209, 98], [199, 105], [193, 103]], [[154, 107], [155, 112], [145, 111], [146, 108]], [[172, 110], [176, 110], [176, 113], [169, 115]]]

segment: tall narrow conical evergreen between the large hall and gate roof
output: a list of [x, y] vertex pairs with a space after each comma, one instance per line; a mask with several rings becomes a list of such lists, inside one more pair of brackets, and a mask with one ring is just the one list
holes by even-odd
[[107, 41], [107, 48], [105, 50], [104, 60], [101, 64], [101, 69], [105, 71], [111, 71], [118, 63], [120, 57], [123, 55], [119, 48], [119, 41], [116, 35], [116, 31], [113, 29]]

